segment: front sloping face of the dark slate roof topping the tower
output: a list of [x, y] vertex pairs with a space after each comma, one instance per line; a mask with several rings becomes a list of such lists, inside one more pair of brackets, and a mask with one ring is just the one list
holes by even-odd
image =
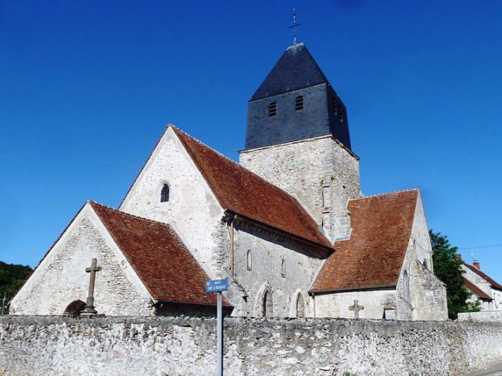
[[288, 47], [251, 100], [329, 83], [303, 43]]

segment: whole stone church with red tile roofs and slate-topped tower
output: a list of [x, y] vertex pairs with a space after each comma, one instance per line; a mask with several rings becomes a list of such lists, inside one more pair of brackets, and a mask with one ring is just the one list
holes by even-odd
[[85, 203], [10, 312], [212, 316], [217, 278], [232, 316], [447, 318], [419, 190], [362, 195], [347, 109], [303, 43], [249, 100], [239, 164], [169, 125], [119, 208]]

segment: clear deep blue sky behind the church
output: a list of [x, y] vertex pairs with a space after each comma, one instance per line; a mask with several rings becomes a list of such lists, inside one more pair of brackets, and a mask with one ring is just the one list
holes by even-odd
[[237, 159], [247, 100], [304, 42], [347, 105], [365, 195], [502, 282], [502, 2], [0, 2], [0, 260], [36, 265], [87, 199], [117, 207], [166, 124]]

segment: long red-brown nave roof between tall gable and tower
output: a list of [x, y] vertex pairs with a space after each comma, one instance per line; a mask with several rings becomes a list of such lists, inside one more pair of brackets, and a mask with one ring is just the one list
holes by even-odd
[[332, 250], [294, 197], [173, 126], [223, 209]]

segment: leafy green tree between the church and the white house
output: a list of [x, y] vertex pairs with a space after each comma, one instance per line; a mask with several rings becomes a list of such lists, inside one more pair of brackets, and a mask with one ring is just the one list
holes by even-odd
[[462, 259], [457, 256], [457, 247], [452, 247], [448, 236], [429, 230], [433, 245], [434, 274], [446, 285], [448, 317], [457, 318], [459, 312], [479, 311], [479, 302], [468, 303], [472, 293], [463, 282]]

